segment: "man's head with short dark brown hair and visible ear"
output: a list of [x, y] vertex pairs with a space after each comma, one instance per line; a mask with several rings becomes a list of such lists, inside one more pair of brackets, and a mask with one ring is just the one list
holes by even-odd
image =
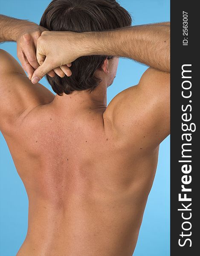
[[[50, 31], [89, 32], [131, 25], [130, 14], [116, 0], [53, 0], [42, 15], [40, 26]], [[72, 76], [46, 76], [58, 95], [95, 90], [101, 81], [113, 83], [118, 66], [113, 56], [84, 56], [72, 63]]]

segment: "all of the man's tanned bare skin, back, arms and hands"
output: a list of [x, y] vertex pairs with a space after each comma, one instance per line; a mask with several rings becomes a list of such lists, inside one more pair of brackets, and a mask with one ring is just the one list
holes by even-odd
[[[41, 33], [12, 21], [0, 16], [0, 41], [17, 41], [32, 79], [0, 50], [0, 130], [29, 198], [17, 256], [132, 256], [170, 129], [169, 23]], [[36, 83], [48, 72], [70, 76], [76, 58], [94, 54], [115, 57], [96, 71], [102, 81], [92, 93], [55, 96]], [[150, 68], [107, 106], [119, 56]]]

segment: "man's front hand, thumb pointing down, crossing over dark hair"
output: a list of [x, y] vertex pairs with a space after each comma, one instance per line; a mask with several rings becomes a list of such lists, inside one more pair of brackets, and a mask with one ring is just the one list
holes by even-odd
[[69, 67], [71, 67], [72, 61], [81, 57], [78, 34], [80, 33], [42, 32], [41, 37], [38, 38], [36, 53], [40, 67], [33, 73], [31, 79], [33, 84], [36, 84], [50, 70], [55, 70], [58, 67], [61, 68], [65, 75], [72, 75]]

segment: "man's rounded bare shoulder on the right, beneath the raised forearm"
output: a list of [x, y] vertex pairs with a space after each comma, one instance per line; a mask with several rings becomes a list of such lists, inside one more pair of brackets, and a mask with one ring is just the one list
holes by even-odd
[[149, 68], [139, 84], [116, 95], [104, 112], [117, 137], [155, 148], [169, 134], [170, 74]]

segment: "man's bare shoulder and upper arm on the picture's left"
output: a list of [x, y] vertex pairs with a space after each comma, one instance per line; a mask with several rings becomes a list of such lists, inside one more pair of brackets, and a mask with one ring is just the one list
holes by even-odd
[[2, 49], [0, 60], [0, 131], [6, 133], [22, 115], [55, 96], [43, 85], [32, 84], [18, 61]]

